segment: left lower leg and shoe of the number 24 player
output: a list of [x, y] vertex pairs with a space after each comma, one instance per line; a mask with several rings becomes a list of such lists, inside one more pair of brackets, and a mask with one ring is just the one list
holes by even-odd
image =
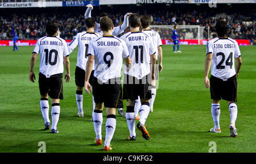
[[212, 100], [211, 111], [214, 127], [210, 129], [210, 132], [220, 133], [220, 100]]

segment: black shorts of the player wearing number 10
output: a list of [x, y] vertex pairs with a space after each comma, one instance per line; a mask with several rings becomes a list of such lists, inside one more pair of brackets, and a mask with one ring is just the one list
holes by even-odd
[[48, 94], [52, 99], [63, 99], [62, 73], [51, 75], [49, 78], [39, 73], [38, 83], [40, 95]]

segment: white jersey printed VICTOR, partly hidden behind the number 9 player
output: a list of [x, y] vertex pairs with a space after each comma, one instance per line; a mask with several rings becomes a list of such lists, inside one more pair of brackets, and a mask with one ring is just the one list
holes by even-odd
[[[68, 45], [68, 51], [69, 51], [69, 54], [71, 54], [71, 52], [77, 47], [77, 45], [79, 45], [76, 66], [85, 70], [86, 62], [88, 59], [88, 47], [89, 47], [90, 40], [97, 38], [99, 36], [100, 35], [98, 35], [95, 32], [84, 31], [84, 32], [77, 33], [77, 35], [73, 37], [73, 40]], [[94, 65], [93, 65], [93, 70], [94, 70]]]

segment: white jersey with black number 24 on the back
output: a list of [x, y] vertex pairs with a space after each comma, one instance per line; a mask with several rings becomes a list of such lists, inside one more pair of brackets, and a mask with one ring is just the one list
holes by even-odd
[[213, 53], [211, 74], [224, 81], [236, 74], [234, 57], [240, 57], [237, 41], [216, 37], [207, 43], [207, 54]]

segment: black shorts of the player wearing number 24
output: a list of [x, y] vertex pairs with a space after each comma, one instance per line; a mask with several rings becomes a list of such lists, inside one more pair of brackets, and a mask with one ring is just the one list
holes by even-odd
[[223, 81], [220, 78], [210, 76], [210, 98], [214, 100], [237, 101], [237, 78], [236, 75]]

